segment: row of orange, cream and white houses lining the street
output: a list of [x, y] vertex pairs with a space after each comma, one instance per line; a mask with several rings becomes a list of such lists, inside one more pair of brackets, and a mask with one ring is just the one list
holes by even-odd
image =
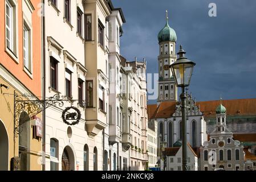
[[145, 59], [106, 0], [0, 4], [0, 170], [147, 169]]

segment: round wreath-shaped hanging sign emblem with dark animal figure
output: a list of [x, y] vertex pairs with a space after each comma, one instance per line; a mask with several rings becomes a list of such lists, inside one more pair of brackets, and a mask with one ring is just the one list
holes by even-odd
[[77, 125], [81, 119], [80, 110], [76, 107], [66, 107], [62, 112], [62, 119], [67, 125]]

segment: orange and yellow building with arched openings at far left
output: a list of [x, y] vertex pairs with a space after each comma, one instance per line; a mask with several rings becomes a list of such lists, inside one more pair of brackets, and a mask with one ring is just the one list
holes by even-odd
[[38, 100], [42, 96], [40, 3], [0, 2], [0, 171], [42, 169], [41, 115], [36, 115], [35, 122], [30, 102], [14, 105], [14, 93], [23, 100]]

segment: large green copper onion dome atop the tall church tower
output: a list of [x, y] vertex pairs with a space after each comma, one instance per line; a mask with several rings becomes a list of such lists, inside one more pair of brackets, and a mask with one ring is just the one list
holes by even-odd
[[168, 24], [168, 18], [166, 20], [165, 27], [162, 28], [162, 30], [159, 32], [159, 35], [157, 37], [159, 39], [159, 42], [166, 42], [166, 41], [176, 42], [177, 35], [176, 35], [176, 32], [172, 28], [170, 28]]

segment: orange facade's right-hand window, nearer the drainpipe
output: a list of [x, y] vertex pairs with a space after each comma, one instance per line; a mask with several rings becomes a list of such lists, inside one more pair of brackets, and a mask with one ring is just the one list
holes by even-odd
[[23, 21], [23, 64], [27, 71], [31, 73], [31, 30], [25, 20]]

